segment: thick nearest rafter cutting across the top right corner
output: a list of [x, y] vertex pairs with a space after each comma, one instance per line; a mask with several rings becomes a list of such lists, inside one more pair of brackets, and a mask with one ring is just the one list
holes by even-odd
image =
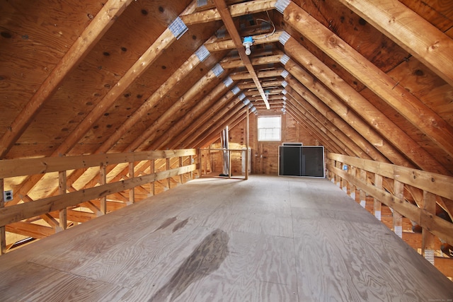
[[398, 0], [340, 0], [453, 86], [453, 40]]

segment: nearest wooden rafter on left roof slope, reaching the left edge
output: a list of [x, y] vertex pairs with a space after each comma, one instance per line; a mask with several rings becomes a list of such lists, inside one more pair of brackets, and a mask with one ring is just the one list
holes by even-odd
[[86, 57], [86, 54], [93, 49], [94, 45], [103, 37], [104, 33], [131, 2], [132, 0], [108, 0], [103, 4], [101, 11], [86, 26], [84, 32], [81, 33], [67, 53], [59, 60], [57, 66], [52, 69], [52, 72], [38, 88], [38, 91], [28, 101], [21, 113], [18, 114], [16, 120], [6, 129], [4, 136], [0, 139], [0, 158], [4, 158], [9, 149], [33, 121], [33, 117], [38, 113], [42, 104], [57, 91], [66, 76]]

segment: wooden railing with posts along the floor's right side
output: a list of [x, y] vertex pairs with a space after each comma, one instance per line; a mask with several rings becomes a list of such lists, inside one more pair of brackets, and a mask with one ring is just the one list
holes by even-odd
[[453, 177], [336, 153], [327, 158], [328, 177], [352, 194], [357, 189], [364, 207], [366, 196], [373, 197], [372, 212], [379, 220], [382, 204], [392, 209], [398, 236], [403, 216], [421, 226], [420, 249], [427, 259], [431, 261], [434, 236], [453, 245], [453, 223], [436, 215], [436, 207], [442, 207], [451, 219]]

